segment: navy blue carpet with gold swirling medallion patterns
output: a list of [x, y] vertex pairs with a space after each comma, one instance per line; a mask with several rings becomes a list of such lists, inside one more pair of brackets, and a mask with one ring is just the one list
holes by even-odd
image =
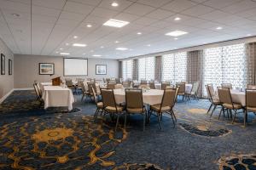
[[143, 116], [121, 117], [118, 132], [108, 117], [93, 120], [96, 106], [75, 95], [73, 111], [49, 108], [33, 91], [15, 91], [0, 105], [0, 169], [256, 169], [256, 116], [242, 114], [234, 124], [209, 102], [175, 106], [177, 126], [163, 117], [160, 130], [152, 116], [143, 132]]

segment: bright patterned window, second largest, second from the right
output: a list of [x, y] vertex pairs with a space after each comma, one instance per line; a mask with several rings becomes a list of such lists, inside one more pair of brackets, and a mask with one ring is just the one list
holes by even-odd
[[166, 54], [162, 57], [162, 80], [172, 83], [186, 81], [187, 53]]

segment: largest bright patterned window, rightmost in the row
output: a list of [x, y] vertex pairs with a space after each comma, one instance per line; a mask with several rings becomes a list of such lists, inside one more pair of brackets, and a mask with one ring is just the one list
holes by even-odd
[[[236, 44], [204, 50], [203, 87], [212, 83], [217, 88], [221, 83], [231, 83], [233, 88], [246, 88], [247, 61], [245, 45]], [[207, 91], [203, 88], [203, 94]]]

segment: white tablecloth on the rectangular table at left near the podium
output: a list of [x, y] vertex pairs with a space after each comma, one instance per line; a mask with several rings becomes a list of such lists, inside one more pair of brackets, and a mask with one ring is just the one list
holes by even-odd
[[68, 111], [73, 110], [73, 93], [69, 88], [62, 88], [60, 86], [44, 86], [44, 109], [48, 107], [67, 106]]

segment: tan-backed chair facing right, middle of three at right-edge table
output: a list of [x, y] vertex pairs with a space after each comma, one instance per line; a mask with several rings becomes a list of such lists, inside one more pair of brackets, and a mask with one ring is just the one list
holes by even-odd
[[242, 109], [242, 106], [233, 102], [230, 94], [230, 88], [218, 88], [218, 98], [222, 106], [221, 111], [219, 112], [218, 119], [221, 116], [221, 113], [223, 112], [224, 114], [225, 111], [227, 111], [228, 118], [229, 114], [232, 118], [232, 111], [235, 111], [235, 115], [232, 121], [233, 123], [235, 121], [237, 111]]

